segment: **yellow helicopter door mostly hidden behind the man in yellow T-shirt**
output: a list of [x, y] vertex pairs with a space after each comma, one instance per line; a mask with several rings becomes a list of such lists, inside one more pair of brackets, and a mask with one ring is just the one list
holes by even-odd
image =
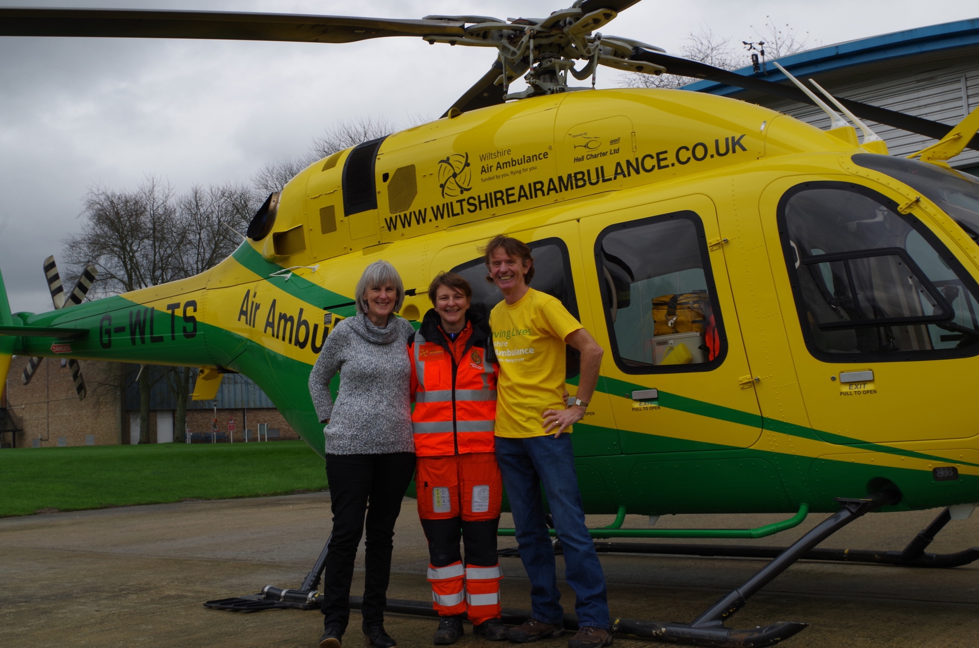
[[[582, 307], [579, 303], [575, 291], [576, 283], [582, 285], [581, 275], [576, 277], [574, 272], [580, 272], [581, 265], [572, 263], [573, 260], [577, 261], [581, 258], [577, 225], [577, 222], [572, 221], [538, 227], [530, 232], [517, 232], [511, 236], [527, 242], [534, 255], [535, 275], [531, 286], [542, 293], [556, 297], [588, 331], [594, 331], [596, 324], [591, 321], [588, 308]], [[473, 258], [476, 246], [476, 243], [468, 243], [443, 250], [435, 257], [432, 271], [450, 270], [462, 275], [473, 288], [473, 302], [483, 303], [491, 309], [502, 301], [503, 296], [495, 285], [486, 280], [487, 267], [484, 257], [481, 255]], [[571, 394], [575, 393], [578, 385], [579, 356], [579, 352], [574, 347], [567, 348], [566, 374], [568, 392]], [[608, 397], [604, 393], [595, 393], [587, 415], [581, 423], [575, 425], [572, 439], [575, 444], [575, 456], [620, 453], [619, 437], [615, 432]]]

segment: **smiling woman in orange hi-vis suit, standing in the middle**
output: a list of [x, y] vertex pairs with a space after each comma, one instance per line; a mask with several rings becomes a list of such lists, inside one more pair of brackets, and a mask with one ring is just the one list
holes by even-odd
[[[455, 643], [467, 616], [476, 634], [506, 638], [500, 621], [496, 528], [502, 481], [493, 453], [496, 375], [489, 318], [472, 288], [440, 273], [434, 308], [409, 345], [418, 515], [429, 542], [429, 580], [439, 613], [437, 645]], [[465, 547], [465, 561], [459, 540]]]

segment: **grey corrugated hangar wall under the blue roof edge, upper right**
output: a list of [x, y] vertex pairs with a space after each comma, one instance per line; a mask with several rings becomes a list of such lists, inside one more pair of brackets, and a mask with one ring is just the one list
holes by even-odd
[[[876, 78], [843, 78], [835, 82], [817, 78], [816, 81], [833, 95], [950, 125], [979, 106], [979, 60], [974, 57], [957, 63], [941, 62], [912, 69], [895, 65], [895, 69], [880, 72]], [[781, 100], [753, 101], [819, 128], [829, 127], [829, 117], [815, 106]], [[867, 125], [884, 138], [892, 155], [907, 156], [935, 142], [876, 122], [868, 121]], [[979, 151], [966, 149], [951, 163], [956, 167], [979, 165]]]

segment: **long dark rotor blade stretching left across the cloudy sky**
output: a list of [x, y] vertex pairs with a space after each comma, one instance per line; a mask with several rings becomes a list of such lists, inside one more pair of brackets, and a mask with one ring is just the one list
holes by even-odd
[[0, 36], [203, 38], [352, 43], [385, 36], [463, 36], [464, 23], [352, 16], [127, 9], [0, 8]]

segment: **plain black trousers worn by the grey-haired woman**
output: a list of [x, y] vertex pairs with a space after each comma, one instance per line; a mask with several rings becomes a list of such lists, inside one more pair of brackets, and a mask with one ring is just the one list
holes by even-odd
[[323, 574], [324, 627], [343, 632], [350, 623], [353, 560], [365, 528], [363, 624], [384, 622], [395, 522], [414, 471], [411, 452], [326, 455], [333, 537]]

